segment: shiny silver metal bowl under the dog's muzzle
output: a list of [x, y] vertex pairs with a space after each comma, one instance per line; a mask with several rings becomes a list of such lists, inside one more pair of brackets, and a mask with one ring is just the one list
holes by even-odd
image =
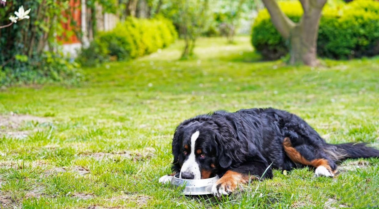
[[207, 195], [211, 194], [212, 186], [216, 183], [219, 177], [216, 175], [213, 178], [205, 179], [183, 179], [179, 178], [179, 173], [174, 175], [171, 180], [171, 184], [175, 187], [182, 187], [185, 195]]

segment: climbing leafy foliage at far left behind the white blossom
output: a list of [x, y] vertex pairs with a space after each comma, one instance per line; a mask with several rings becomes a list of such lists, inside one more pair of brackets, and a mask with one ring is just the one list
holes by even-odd
[[20, 6], [31, 9], [30, 19], [0, 29], [0, 85], [67, 81], [77, 74], [77, 63], [65, 59], [56, 42], [63, 34], [61, 23], [67, 22], [62, 11], [67, 11], [68, 2], [8, 0], [0, 9], [0, 25], [8, 24], [9, 15]]

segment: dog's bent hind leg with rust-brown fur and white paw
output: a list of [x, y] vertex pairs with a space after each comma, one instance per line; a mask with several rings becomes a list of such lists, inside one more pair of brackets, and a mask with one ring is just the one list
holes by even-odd
[[332, 177], [337, 172], [337, 165], [323, 153], [322, 149], [315, 149], [307, 144], [302, 144], [295, 148], [292, 146], [290, 138], [283, 140], [283, 148], [294, 163], [315, 167], [316, 176]]

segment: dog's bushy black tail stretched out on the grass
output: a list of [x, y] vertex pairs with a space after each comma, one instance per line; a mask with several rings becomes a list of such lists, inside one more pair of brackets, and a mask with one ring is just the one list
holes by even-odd
[[366, 143], [326, 144], [324, 151], [334, 161], [346, 158], [379, 157], [379, 150], [367, 147]]

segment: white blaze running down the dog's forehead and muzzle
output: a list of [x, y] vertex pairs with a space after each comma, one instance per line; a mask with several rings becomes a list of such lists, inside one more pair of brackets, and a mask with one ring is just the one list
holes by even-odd
[[199, 137], [199, 134], [199, 131], [196, 131], [191, 136], [191, 153], [189, 153], [188, 158], [183, 163], [182, 169], [180, 169], [179, 178], [182, 178], [182, 171], [192, 173], [194, 175], [193, 179], [201, 178], [199, 164], [197, 164], [195, 160], [195, 142], [196, 139]]

